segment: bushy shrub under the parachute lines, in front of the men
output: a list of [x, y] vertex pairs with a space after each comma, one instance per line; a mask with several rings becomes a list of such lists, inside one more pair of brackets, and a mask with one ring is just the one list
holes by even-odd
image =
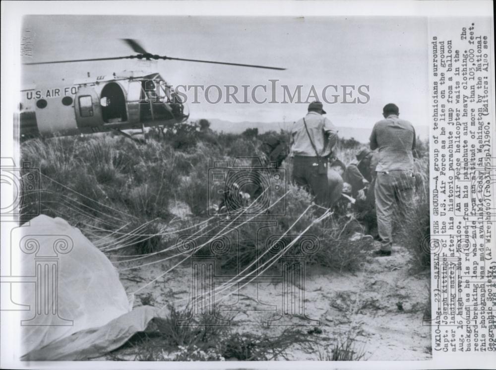
[[[278, 199], [284, 193], [285, 191], [281, 187], [273, 194], [273, 199]], [[357, 236], [357, 233], [363, 230], [353, 218], [329, 217], [312, 224], [322, 214], [322, 210], [315, 206], [309, 208], [310, 205], [310, 194], [289, 184], [286, 194], [285, 216], [277, 217], [277, 226], [274, 227], [260, 228], [257, 223], [248, 223], [240, 228], [239, 255], [238, 250], [230, 250], [223, 260], [223, 271], [235, 269], [238, 261], [240, 268], [246, 268], [257, 256], [261, 256], [260, 263], [265, 262], [259, 272], [265, 268], [267, 268], [267, 274], [270, 274], [272, 270], [277, 270], [278, 263], [276, 261], [283, 254], [274, 258], [275, 255], [267, 251], [270, 246], [266, 243], [273, 235], [284, 235], [290, 228], [287, 236], [279, 241], [280, 246], [275, 246], [275, 248], [287, 246], [296, 239], [297, 235], [303, 234], [303, 236], [292, 247], [285, 249], [285, 256], [302, 255], [300, 242], [306, 240], [305, 235], [307, 235], [315, 237], [320, 242], [320, 247], [314, 254], [306, 255], [306, 260], [309, 263], [324, 265], [335, 271], [356, 270], [363, 262], [366, 251], [372, 246], [372, 238]], [[281, 214], [283, 210], [283, 201], [280, 201], [273, 208], [273, 213]], [[308, 228], [309, 226], [310, 228]], [[308, 230], [306, 230], [307, 228]], [[271, 240], [277, 242], [277, 238]], [[254, 268], [255, 266], [252, 265], [250, 270], [252, 271]]]

